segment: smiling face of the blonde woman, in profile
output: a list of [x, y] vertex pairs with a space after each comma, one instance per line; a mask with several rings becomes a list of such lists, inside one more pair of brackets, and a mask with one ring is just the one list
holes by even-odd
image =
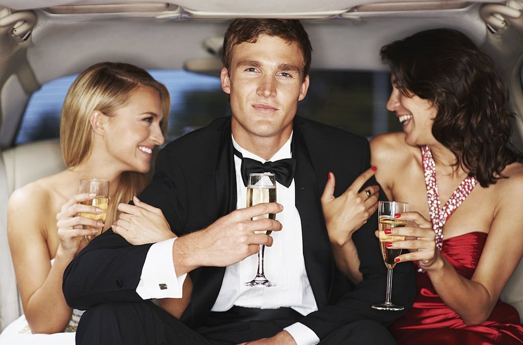
[[149, 171], [154, 147], [164, 143], [162, 120], [158, 92], [146, 86], [137, 88], [127, 104], [108, 118], [107, 152], [123, 164], [124, 171]]

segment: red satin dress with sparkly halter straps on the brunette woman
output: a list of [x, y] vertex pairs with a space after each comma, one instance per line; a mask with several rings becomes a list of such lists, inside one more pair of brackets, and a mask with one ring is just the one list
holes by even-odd
[[[425, 148], [425, 150], [427, 149], [428, 147]], [[425, 157], [428, 155], [426, 153], [424, 152], [424, 161], [428, 161]], [[430, 181], [432, 180], [431, 174], [427, 174], [427, 170], [430, 169], [427, 169], [427, 166], [425, 168], [426, 181]], [[433, 168], [435, 168], [435, 165]], [[429, 177], [427, 178], [427, 176]], [[436, 195], [436, 204], [439, 206], [435, 173], [433, 177], [432, 181], [434, 183], [432, 185], [427, 182], [427, 195], [429, 195], [429, 199], [431, 197], [434, 199], [434, 195]], [[464, 198], [468, 195], [468, 193], [465, 194], [462, 195], [461, 201], [464, 201]], [[449, 199], [450, 203], [452, 203], [453, 197]], [[432, 203], [432, 206], [436, 204]], [[429, 201], [430, 207], [431, 202]], [[453, 210], [456, 210], [456, 208], [453, 208]], [[441, 220], [448, 219], [452, 212], [447, 212], [447, 215], [445, 217], [442, 216]], [[445, 214], [443, 209], [441, 214]], [[433, 227], [435, 218], [437, 216], [432, 218]], [[444, 223], [444, 221], [442, 222]], [[438, 234], [436, 229], [435, 231]], [[486, 233], [476, 231], [449, 239], [442, 239], [440, 252], [459, 274], [467, 279], [471, 279], [477, 262], [480, 260], [486, 238]], [[416, 284], [417, 296], [414, 305], [407, 314], [397, 319], [389, 328], [398, 345], [523, 344], [523, 326], [521, 326], [518, 312], [514, 307], [498, 301], [491, 315], [483, 324], [467, 326], [460, 316], [441, 300], [426, 273], [416, 273]]]

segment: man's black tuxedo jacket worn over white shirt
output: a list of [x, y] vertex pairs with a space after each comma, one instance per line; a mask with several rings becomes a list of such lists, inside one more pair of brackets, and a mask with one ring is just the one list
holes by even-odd
[[[367, 140], [296, 117], [292, 146], [293, 157], [297, 158], [294, 181], [296, 207], [302, 221], [305, 269], [319, 308], [300, 322], [320, 339], [355, 320], [374, 319], [388, 324], [402, 313], [371, 308], [385, 298], [386, 269], [374, 236], [377, 214], [353, 236], [363, 274], [363, 282], [353, 286], [334, 265], [320, 203], [329, 171], [336, 175], [335, 195], [339, 195], [370, 167]], [[139, 198], [161, 208], [178, 236], [205, 228], [234, 210], [236, 177], [230, 117], [214, 120], [161, 150], [153, 181]], [[112, 231], [97, 237], [64, 273], [67, 303], [86, 309], [104, 302], [142, 301], [135, 290], [150, 246], [131, 246]], [[224, 272], [225, 268], [217, 267], [190, 272], [194, 288], [191, 302], [181, 317], [190, 327], [198, 326], [208, 315]], [[393, 282], [394, 303], [408, 309], [415, 296], [412, 263], [397, 265]]]

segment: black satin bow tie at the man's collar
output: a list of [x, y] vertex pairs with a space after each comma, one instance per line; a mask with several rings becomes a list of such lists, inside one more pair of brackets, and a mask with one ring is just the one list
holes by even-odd
[[274, 174], [276, 181], [289, 188], [292, 179], [294, 178], [294, 170], [296, 168], [295, 158], [280, 159], [278, 161], [267, 161], [261, 163], [255, 159], [244, 158], [240, 151], [234, 149], [234, 154], [242, 159], [242, 180], [243, 184], [247, 186], [249, 181], [249, 174], [270, 172]]

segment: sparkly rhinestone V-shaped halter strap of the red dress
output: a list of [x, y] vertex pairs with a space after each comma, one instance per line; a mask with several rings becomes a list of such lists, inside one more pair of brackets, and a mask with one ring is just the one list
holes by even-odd
[[470, 192], [474, 189], [477, 180], [475, 177], [467, 176], [449, 200], [441, 208], [438, 194], [438, 182], [436, 181], [436, 163], [432, 158], [432, 152], [428, 145], [422, 146], [423, 170], [425, 171], [425, 185], [427, 186], [427, 201], [432, 222], [432, 228], [436, 232], [436, 248], [441, 251], [443, 246], [443, 226], [454, 211], [461, 205]]

